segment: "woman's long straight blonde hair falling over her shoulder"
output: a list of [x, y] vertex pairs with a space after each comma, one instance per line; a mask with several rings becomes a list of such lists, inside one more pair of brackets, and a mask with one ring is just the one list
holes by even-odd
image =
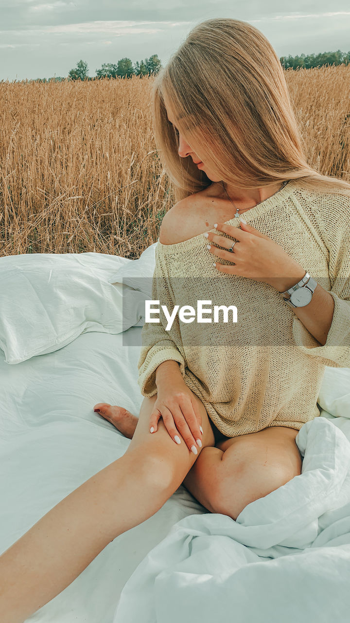
[[212, 181], [190, 156], [180, 158], [164, 102], [198, 157], [209, 158], [229, 184], [253, 189], [303, 178], [306, 188], [349, 194], [348, 182], [307, 163], [283, 67], [248, 22], [217, 18], [195, 26], [154, 78], [152, 95], [154, 139], [176, 202]]

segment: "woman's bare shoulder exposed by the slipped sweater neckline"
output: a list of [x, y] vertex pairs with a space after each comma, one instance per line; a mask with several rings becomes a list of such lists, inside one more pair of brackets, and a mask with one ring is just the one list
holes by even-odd
[[159, 242], [177, 244], [207, 231], [209, 222], [203, 219], [207, 197], [207, 189], [204, 189], [174, 204], [161, 222]]

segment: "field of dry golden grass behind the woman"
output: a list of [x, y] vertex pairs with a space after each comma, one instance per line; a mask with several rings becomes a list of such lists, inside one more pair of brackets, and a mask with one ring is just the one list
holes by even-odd
[[[350, 66], [286, 71], [310, 164], [350, 181]], [[0, 256], [135, 259], [173, 203], [152, 133], [153, 78], [0, 83]]]

